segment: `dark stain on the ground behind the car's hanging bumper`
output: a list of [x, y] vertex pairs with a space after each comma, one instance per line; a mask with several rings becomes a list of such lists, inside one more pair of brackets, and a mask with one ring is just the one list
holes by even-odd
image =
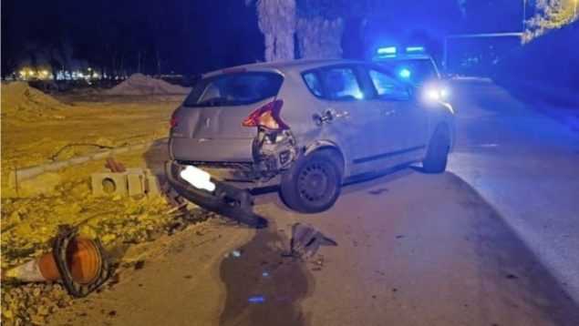
[[301, 260], [283, 257], [288, 243], [272, 223], [222, 260], [221, 325], [305, 325], [300, 301], [310, 282]]

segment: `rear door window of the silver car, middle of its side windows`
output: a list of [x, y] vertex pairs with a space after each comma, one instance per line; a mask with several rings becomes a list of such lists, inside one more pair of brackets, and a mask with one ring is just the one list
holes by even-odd
[[330, 67], [322, 70], [322, 81], [326, 97], [331, 100], [347, 101], [364, 98], [354, 68]]

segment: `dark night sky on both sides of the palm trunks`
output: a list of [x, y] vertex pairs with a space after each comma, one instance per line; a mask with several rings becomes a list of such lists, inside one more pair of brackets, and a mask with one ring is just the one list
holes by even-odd
[[[515, 0], [466, 0], [466, 11], [457, 0], [384, 3], [392, 6], [368, 15], [365, 38], [426, 34], [440, 43], [450, 33], [521, 28], [522, 2]], [[363, 53], [358, 25], [368, 16], [346, 17], [346, 56]], [[23, 62], [63, 66], [62, 56], [96, 69], [194, 75], [263, 60], [263, 52], [255, 8], [245, 0], [2, 2], [3, 76]]]

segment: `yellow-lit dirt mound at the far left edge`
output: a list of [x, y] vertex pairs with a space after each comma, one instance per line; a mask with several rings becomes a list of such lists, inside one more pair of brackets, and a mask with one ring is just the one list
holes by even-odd
[[2, 83], [2, 116], [19, 119], [57, 117], [57, 111], [66, 108], [36, 88], [24, 82]]

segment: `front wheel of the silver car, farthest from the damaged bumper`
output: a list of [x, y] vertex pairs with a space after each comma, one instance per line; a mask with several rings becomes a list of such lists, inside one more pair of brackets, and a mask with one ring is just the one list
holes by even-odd
[[426, 158], [422, 161], [422, 168], [426, 173], [442, 173], [446, 170], [450, 151], [449, 129], [439, 126], [430, 139]]

